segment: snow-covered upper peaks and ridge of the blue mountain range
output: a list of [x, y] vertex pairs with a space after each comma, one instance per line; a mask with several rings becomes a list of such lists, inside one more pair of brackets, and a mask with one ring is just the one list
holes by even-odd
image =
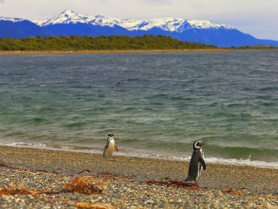
[[159, 28], [170, 32], [182, 32], [188, 29], [234, 29], [225, 24], [211, 23], [209, 20], [185, 20], [182, 18], [157, 18], [148, 20], [133, 20], [133, 19], [118, 19], [113, 17], [104, 17], [101, 15], [90, 16], [85, 14], [77, 14], [71, 10], [65, 10], [58, 16], [46, 20], [33, 20], [39, 26], [48, 26], [55, 24], [69, 24], [69, 23], [86, 23], [97, 26], [114, 27], [118, 25], [127, 30], [150, 30], [152, 28]]

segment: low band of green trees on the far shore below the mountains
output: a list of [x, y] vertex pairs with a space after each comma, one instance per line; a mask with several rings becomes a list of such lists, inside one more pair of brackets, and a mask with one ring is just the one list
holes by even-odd
[[179, 41], [170, 36], [49, 36], [22, 39], [0, 38], [0, 51], [70, 51], [70, 50], [182, 50], [214, 49], [214, 45]]

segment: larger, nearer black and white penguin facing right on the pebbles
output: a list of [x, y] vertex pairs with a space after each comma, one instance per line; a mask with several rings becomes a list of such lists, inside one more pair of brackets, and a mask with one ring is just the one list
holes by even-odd
[[201, 148], [204, 144], [207, 143], [198, 140], [193, 143], [193, 154], [190, 159], [188, 176], [185, 181], [194, 180], [196, 182], [201, 175], [202, 169], [204, 169], [204, 171], [207, 169], [207, 165], [204, 160], [204, 152]]

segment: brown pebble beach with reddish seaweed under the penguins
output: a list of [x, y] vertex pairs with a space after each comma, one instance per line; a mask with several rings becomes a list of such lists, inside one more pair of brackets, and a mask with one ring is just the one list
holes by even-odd
[[0, 208], [278, 208], [277, 169], [208, 164], [185, 183], [188, 165], [0, 146]]

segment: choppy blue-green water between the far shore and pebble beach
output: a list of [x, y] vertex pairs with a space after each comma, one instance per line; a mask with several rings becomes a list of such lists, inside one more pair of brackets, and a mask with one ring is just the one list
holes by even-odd
[[0, 143], [278, 168], [278, 51], [0, 55]]

